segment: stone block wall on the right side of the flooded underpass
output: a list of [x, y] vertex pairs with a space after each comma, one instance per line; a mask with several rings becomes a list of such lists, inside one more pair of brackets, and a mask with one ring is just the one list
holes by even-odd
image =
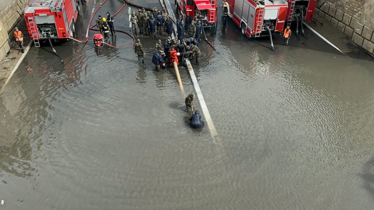
[[315, 12], [374, 56], [374, 0], [321, 0]]

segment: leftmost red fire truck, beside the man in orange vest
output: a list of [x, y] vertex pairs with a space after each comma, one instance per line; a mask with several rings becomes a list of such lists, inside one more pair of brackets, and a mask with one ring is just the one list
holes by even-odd
[[24, 9], [24, 15], [35, 47], [40, 47], [40, 41], [48, 38], [72, 37], [79, 13], [78, 0], [31, 0]]

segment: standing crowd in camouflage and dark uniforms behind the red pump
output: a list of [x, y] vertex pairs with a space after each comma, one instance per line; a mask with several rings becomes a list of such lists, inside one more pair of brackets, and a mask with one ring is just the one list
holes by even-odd
[[153, 8], [153, 11], [145, 11], [144, 8], [139, 9], [138, 13], [133, 12], [130, 17], [134, 35], [139, 34], [156, 37], [156, 32], [159, 36], [165, 31], [167, 35], [171, 36], [173, 33], [173, 22], [169, 18], [166, 9], [159, 11]]

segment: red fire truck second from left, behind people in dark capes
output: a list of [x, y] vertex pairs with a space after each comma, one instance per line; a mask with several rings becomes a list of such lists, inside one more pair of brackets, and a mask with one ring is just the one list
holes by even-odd
[[185, 17], [188, 13], [192, 18], [198, 16], [204, 28], [217, 29], [218, 0], [176, 0], [177, 14]]

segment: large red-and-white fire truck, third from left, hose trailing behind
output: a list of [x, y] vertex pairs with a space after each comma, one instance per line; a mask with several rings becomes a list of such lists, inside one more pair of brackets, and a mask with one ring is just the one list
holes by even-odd
[[229, 16], [248, 37], [282, 32], [287, 14], [285, 0], [228, 0]]

